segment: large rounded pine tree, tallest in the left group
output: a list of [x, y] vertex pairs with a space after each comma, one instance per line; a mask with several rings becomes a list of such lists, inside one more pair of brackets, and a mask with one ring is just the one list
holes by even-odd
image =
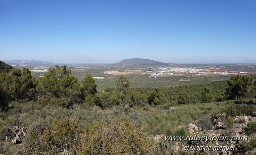
[[62, 107], [70, 107], [80, 101], [80, 84], [71, 76], [71, 70], [66, 65], [49, 68], [43, 78], [39, 78], [37, 91], [40, 100], [50, 100], [50, 103]]

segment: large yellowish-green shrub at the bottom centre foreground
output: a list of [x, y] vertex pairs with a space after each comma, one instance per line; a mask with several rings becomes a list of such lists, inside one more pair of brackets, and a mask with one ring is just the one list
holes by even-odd
[[156, 144], [128, 118], [100, 122], [80, 134], [78, 154], [155, 154]]

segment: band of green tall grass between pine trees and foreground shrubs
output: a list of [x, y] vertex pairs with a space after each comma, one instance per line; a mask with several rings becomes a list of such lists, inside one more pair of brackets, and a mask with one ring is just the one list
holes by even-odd
[[[232, 109], [233, 106], [235, 106], [235, 109]], [[10, 149], [13, 144], [7, 144], [7, 142], [4, 142], [4, 139], [5, 136], [10, 135], [9, 129], [14, 125], [35, 129], [33, 134], [37, 134], [35, 138], [38, 138], [40, 137], [41, 130], [50, 127], [54, 119], [76, 117], [79, 120], [79, 126], [86, 125], [90, 127], [97, 122], [110, 121], [119, 117], [129, 117], [135, 126], [143, 128], [148, 135], [152, 134], [155, 136], [165, 133], [171, 136], [172, 134], [178, 134], [178, 132], [178, 135], [185, 135], [185, 127], [179, 130], [175, 129], [178, 129], [180, 125], [186, 126], [189, 123], [195, 123], [198, 126], [211, 129], [211, 120], [208, 119], [211, 115], [222, 114], [223, 112], [226, 112], [232, 117], [237, 114], [247, 114], [251, 113], [256, 105], [237, 105], [229, 102], [218, 102], [175, 107], [177, 108], [173, 110], [168, 110], [165, 106], [160, 106], [158, 109], [151, 107], [150, 111], [146, 111], [144, 107], [134, 106], [118, 111], [120, 106], [101, 109], [100, 107], [87, 108], [83, 105], [74, 105], [72, 108], [66, 109], [56, 105], [41, 105], [35, 102], [12, 102], [9, 109], [0, 114], [0, 148], [2, 147], [2, 150], [5, 150], [2, 151], [3, 153], [0, 152], [0, 154], [12, 154], [12, 150]], [[40, 132], [36, 133], [37, 129]], [[30, 138], [34, 138], [34, 136]], [[39, 139], [35, 139], [36, 142], [37, 140]], [[38, 147], [34, 146], [34, 144], [29, 145]], [[39, 144], [35, 143], [35, 145]], [[17, 152], [18, 150], [22, 150], [23, 147], [22, 145], [17, 146], [14, 150]]]

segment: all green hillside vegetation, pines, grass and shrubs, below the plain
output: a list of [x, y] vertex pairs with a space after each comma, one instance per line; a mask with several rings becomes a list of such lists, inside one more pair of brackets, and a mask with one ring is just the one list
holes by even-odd
[[[153, 137], [187, 134], [180, 126], [189, 123], [211, 129], [216, 114], [231, 132], [234, 117], [256, 117], [255, 84], [255, 77], [237, 75], [211, 84], [132, 89], [120, 76], [117, 88], [97, 92], [92, 75], [78, 81], [65, 65], [39, 79], [27, 68], [12, 69], [0, 73], [0, 154], [174, 154], [173, 142]], [[254, 138], [253, 124], [245, 131]], [[253, 153], [252, 140], [243, 146]]]

